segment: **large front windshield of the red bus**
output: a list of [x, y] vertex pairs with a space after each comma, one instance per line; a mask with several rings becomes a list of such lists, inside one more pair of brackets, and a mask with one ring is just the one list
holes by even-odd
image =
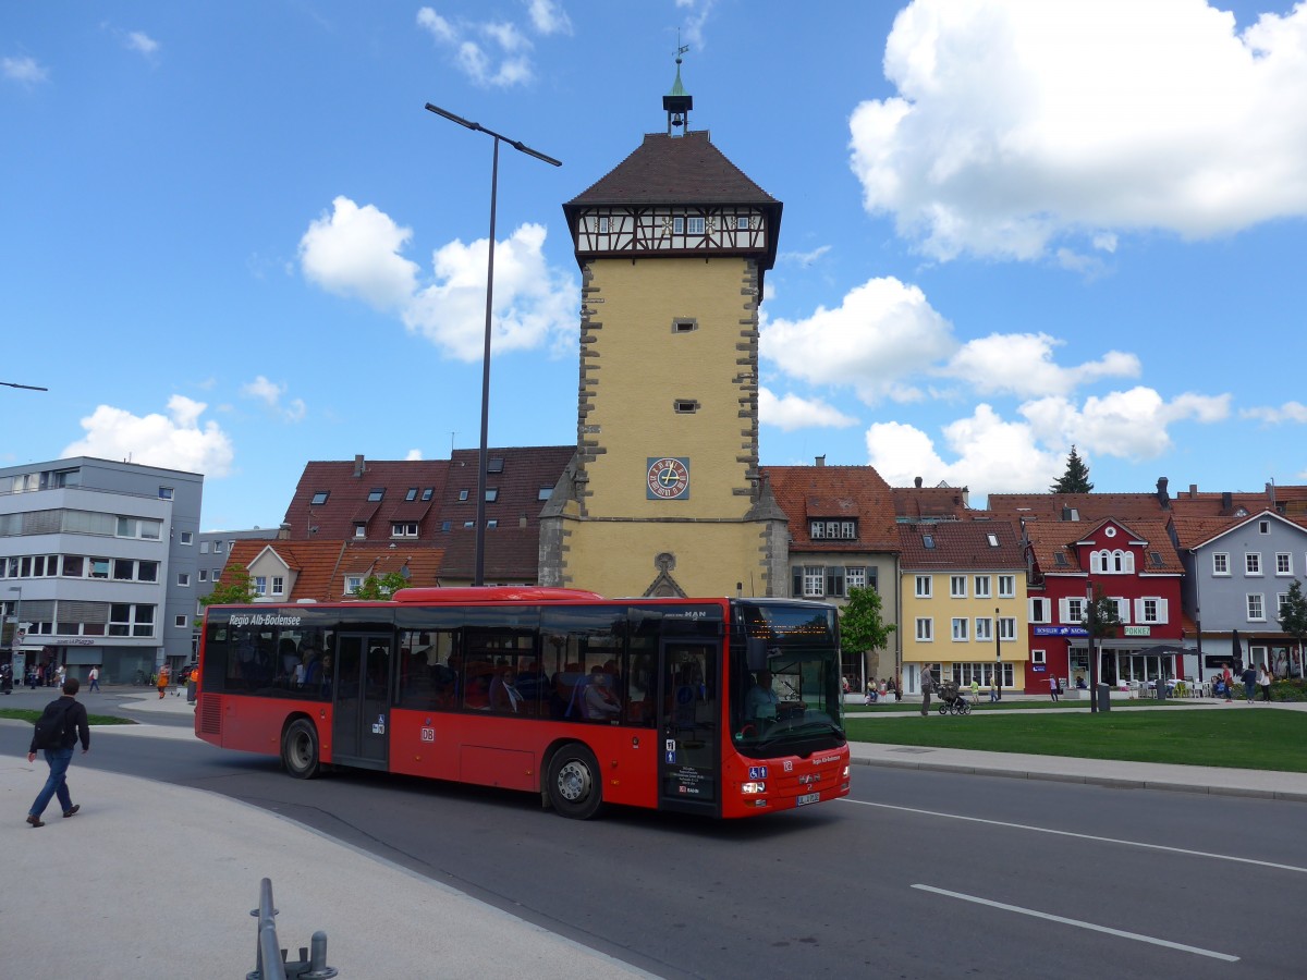
[[741, 602], [732, 644], [731, 732], [745, 755], [844, 743], [835, 610], [816, 602]]

